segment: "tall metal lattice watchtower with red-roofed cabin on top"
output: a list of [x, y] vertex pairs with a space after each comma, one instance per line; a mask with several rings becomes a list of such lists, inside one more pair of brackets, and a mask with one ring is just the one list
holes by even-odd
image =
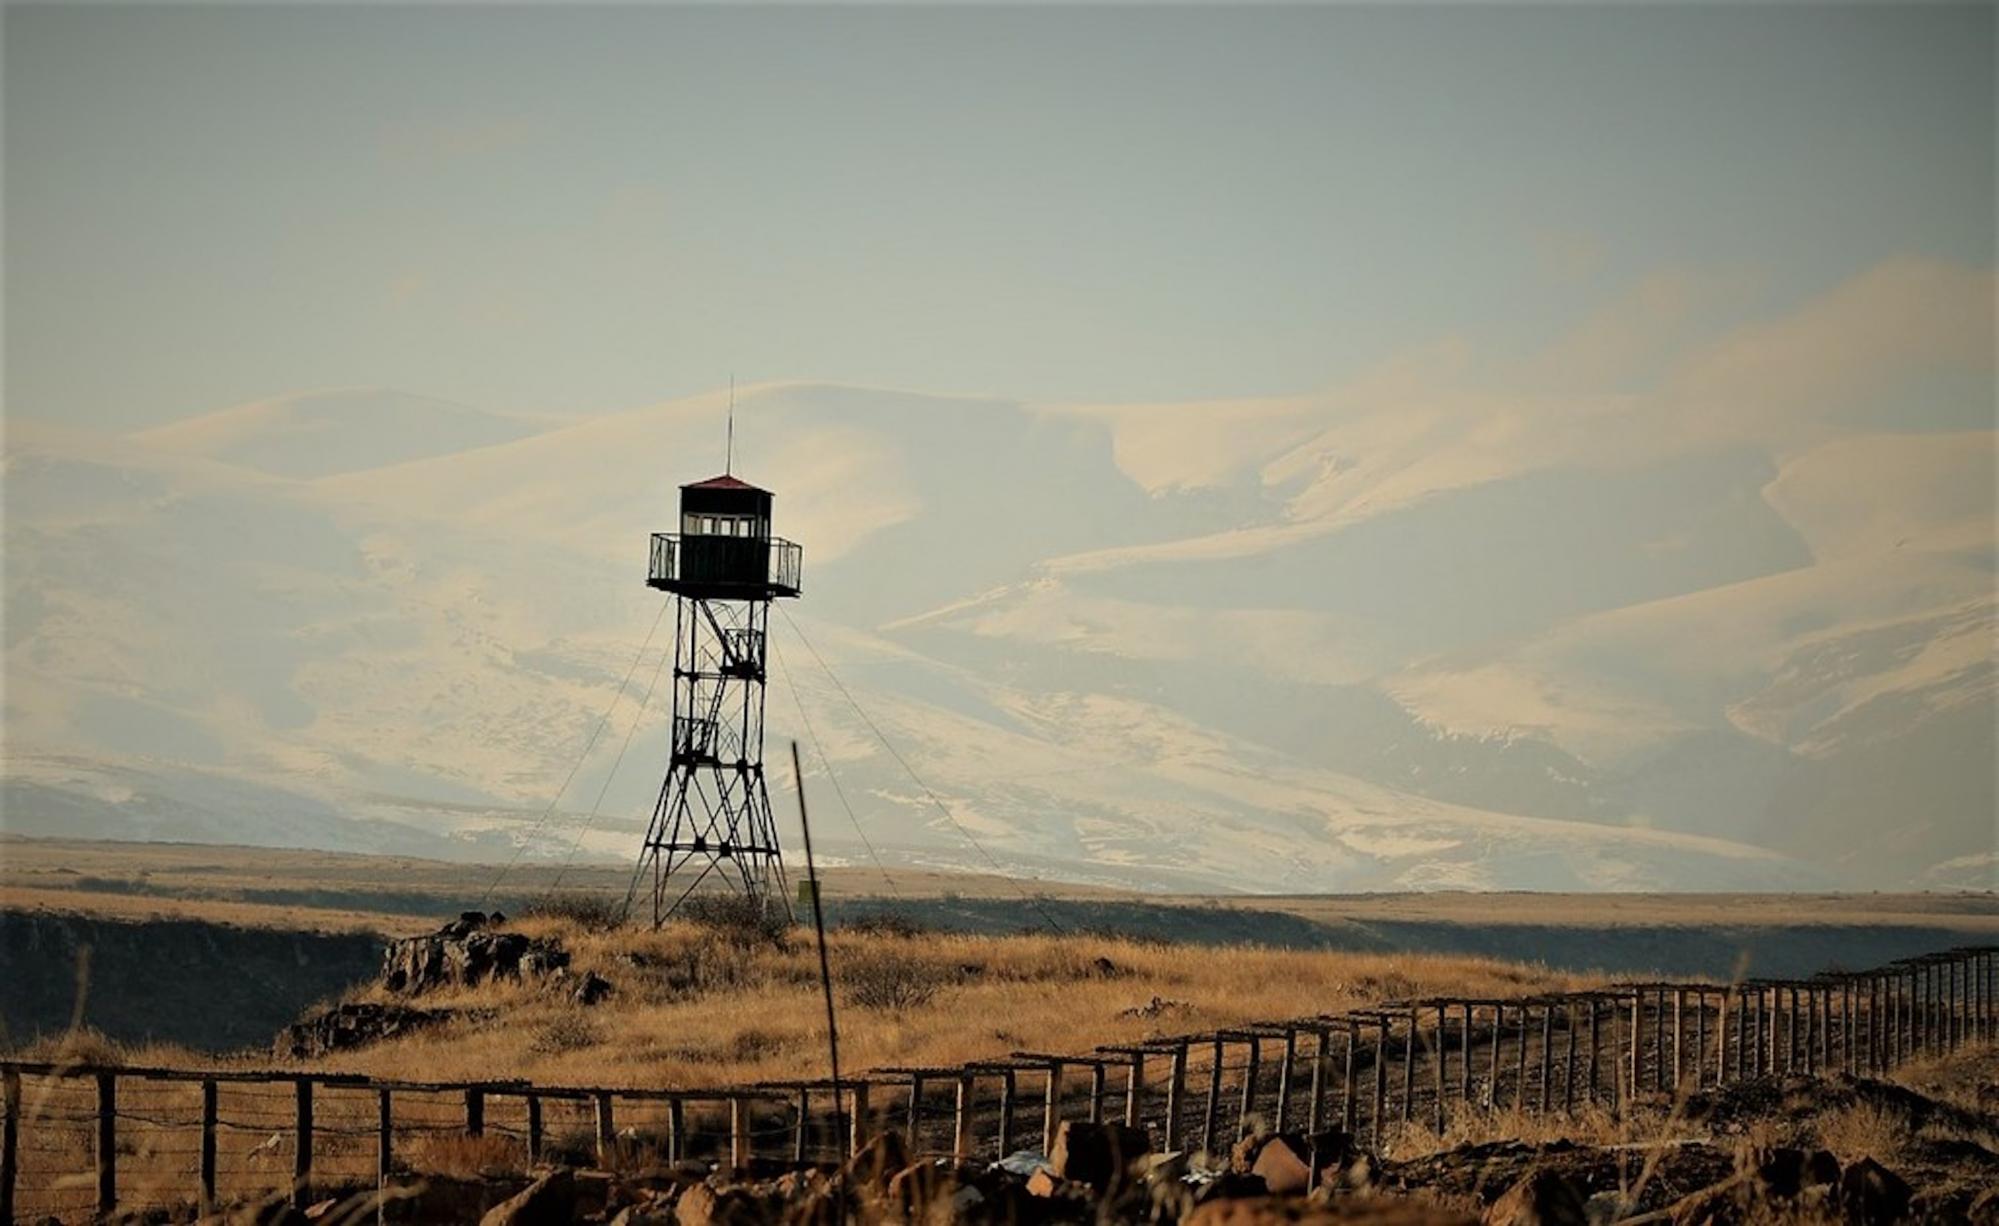
[[680, 488], [680, 532], [652, 534], [646, 584], [674, 600], [674, 748], [646, 828], [660, 926], [710, 876], [784, 908], [764, 786], [770, 602], [798, 596], [804, 550], [770, 534], [770, 490], [734, 476]]

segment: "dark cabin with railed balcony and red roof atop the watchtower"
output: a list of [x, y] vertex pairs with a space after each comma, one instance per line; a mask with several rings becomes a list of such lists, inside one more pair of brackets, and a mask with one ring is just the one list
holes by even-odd
[[770, 534], [770, 504], [734, 476], [680, 486], [680, 532], [654, 532], [646, 584], [696, 600], [798, 596], [804, 550]]

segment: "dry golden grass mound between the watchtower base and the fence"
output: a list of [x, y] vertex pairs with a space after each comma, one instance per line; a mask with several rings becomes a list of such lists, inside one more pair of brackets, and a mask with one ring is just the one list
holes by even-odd
[[[598, 1006], [536, 982], [436, 992], [466, 1016], [330, 1058], [324, 1066], [432, 1080], [694, 1088], [826, 1074], [826, 1014], [808, 936], [738, 942], [708, 928], [590, 932], [562, 918], [514, 928], [554, 936], [576, 974], [616, 992]], [[1397, 996], [1519, 996], [1585, 978], [1483, 958], [1187, 948], [1103, 936], [882, 936], [834, 932], [842, 1062], [852, 1070], [990, 1060], [1251, 1020], [1309, 1018]], [[382, 998], [380, 990], [366, 996]], [[1155, 1000], [1157, 998], [1157, 1000]]]

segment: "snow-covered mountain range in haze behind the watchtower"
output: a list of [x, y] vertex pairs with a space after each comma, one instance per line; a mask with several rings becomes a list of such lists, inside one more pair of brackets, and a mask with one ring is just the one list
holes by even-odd
[[[1447, 354], [1225, 404], [738, 390], [738, 470], [806, 544], [774, 744], [848, 858], [820, 748], [908, 864], [1991, 886], [1995, 434], [1893, 412], [1899, 370], [1989, 348], [1931, 320], [1801, 370], [1911, 280], [1989, 294], [1891, 268], [1617, 396]], [[646, 534], [724, 412], [12, 418], [6, 828], [624, 858], [666, 740]]]

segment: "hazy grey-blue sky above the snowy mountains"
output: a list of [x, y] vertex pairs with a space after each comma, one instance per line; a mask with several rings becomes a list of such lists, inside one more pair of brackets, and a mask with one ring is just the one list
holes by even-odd
[[[1993, 8], [6, 10], [8, 410], [1159, 400], [1993, 260]], [[1721, 330], [1727, 296], [1701, 326]]]

